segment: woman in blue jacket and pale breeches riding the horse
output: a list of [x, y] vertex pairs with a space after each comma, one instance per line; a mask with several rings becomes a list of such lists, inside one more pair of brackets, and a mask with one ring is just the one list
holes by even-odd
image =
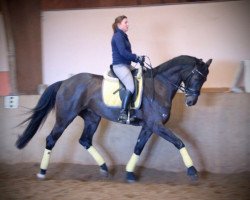
[[117, 17], [112, 25], [114, 35], [111, 40], [113, 72], [126, 88], [125, 95], [122, 99], [120, 116], [118, 118], [118, 121], [122, 123], [126, 123], [128, 119], [128, 109], [135, 90], [131, 73], [131, 61], [143, 63], [145, 60], [145, 56], [137, 56], [132, 53], [131, 44], [126, 34], [128, 27], [128, 19], [126, 16], [122, 15]]

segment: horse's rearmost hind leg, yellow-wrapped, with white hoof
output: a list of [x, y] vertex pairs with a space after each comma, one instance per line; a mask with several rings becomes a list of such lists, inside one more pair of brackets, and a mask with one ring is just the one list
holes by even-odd
[[60, 138], [60, 136], [63, 134], [64, 130], [67, 128], [67, 126], [73, 121], [73, 119], [77, 115], [74, 115], [73, 113], [62, 113], [59, 115], [57, 113], [56, 123], [54, 125], [54, 128], [52, 129], [51, 133], [46, 138], [46, 148], [44, 150], [43, 158], [40, 165], [40, 172], [37, 174], [37, 177], [40, 179], [44, 179], [47, 168], [49, 165], [49, 160], [51, 156], [51, 151], [53, 147], [55, 146], [57, 140]]

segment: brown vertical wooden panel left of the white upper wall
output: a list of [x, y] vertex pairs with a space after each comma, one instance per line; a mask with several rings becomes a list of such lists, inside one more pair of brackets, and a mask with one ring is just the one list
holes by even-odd
[[42, 83], [40, 0], [8, 0], [19, 94], [36, 94]]

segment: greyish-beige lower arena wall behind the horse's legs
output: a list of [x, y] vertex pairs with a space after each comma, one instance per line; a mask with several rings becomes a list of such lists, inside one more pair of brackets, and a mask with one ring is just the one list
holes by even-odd
[[[196, 106], [186, 107], [183, 94], [174, 99], [171, 119], [166, 126], [183, 139], [200, 171], [236, 173], [249, 171], [250, 164], [250, 94], [202, 93]], [[18, 109], [3, 108], [0, 97], [0, 162], [15, 164], [40, 163], [45, 138], [55, 117], [51, 113], [44, 126], [23, 149], [15, 141], [25, 126], [15, 127], [38, 101], [39, 96], [20, 96]], [[95, 164], [93, 158], [78, 143], [84, 122], [76, 118], [58, 140], [52, 152], [53, 163]], [[103, 119], [94, 137], [94, 146], [101, 152], [108, 166], [125, 165], [133, 153], [140, 127], [132, 127]], [[184, 171], [177, 149], [154, 135], [146, 145], [140, 166], [165, 171]]]

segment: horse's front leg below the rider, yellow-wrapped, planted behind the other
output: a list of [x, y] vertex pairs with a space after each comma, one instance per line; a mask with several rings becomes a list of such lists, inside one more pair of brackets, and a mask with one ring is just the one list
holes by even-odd
[[139, 157], [141, 155], [141, 152], [147, 143], [148, 139], [152, 135], [152, 131], [146, 126], [142, 126], [141, 132], [138, 136], [135, 148], [134, 148], [134, 153], [131, 156], [127, 166], [126, 166], [126, 180], [129, 183], [133, 183], [136, 181], [136, 177], [134, 174], [134, 169], [136, 167], [136, 164], [139, 160]]

